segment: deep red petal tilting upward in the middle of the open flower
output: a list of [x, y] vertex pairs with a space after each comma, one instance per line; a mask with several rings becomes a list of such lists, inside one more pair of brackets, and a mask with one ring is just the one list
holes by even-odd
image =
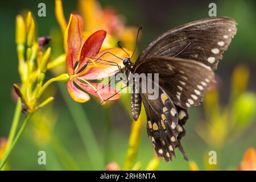
[[82, 46], [80, 52], [80, 59], [79, 59], [79, 68], [80, 70], [85, 64], [88, 63], [86, 58], [92, 58], [97, 55], [98, 51], [101, 49], [101, 45], [106, 37], [106, 31], [99, 30], [94, 32], [89, 38], [85, 41], [84, 45]]

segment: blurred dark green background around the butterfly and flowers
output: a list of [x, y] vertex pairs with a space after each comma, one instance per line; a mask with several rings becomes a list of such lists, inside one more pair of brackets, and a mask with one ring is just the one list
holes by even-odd
[[[47, 7], [47, 16], [38, 17], [38, 3], [44, 2]], [[174, 28], [183, 23], [193, 20], [208, 18], [208, 5], [215, 2], [217, 5], [217, 16], [229, 16], [236, 19], [237, 35], [234, 37], [228, 51], [224, 53], [224, 58], [220, 61], [216, 71], [219, 78], [218, 86], [214, 94], [218, 93], [220, 113], [226, 112], [225, 119], [214, 114], [209, 114], [205, 104], [189, 109], [189, 120], [185, 125], [186, 136], [182, 139], [184, 150], [189, 159], [194, 160], [200, 169], [210, 169], [205, 166], [205, 155], [209, 151], [217, 152], [217, 164], [219, 169], [236, 169], [239, 166], [242, 156], [248, 147], [256, 147], [256, 122], [255, 121], [255, 90], [256, 90], [256, 2], [251, 1], [99, 1], [102, 7], [111, 6], [116, 9], [126, 20], [128, 26], [143, 26], [141, 40], [138, 47], [142, 51], [152, 40], [164, 31]], [[13, 83], [19, 83], [18, 61], [16, 57], [15, 45], [15, 16], [26, 10], [32, 11], [36, 19], [38, 36], [46, 36], [52, 31], [59, 31], [55, 17], [54, 1], [2, 1], [0, 6], [1, 17], [1, 92], [0, 92], [0, 138], [7, 137], [11, 126], [15, 103], [11, 95]], [[77, 1], [63, 1], [65, 18], [71, 12], [77, 11]], [[97, 16], [97, 14], [95, 14]], [[53, 37], [55, 39], [55, 37]], [[56, 45], [52, 43], [53, 52]], [[62, 45], [56, 47], [56, 52]], [[60, 52], [61, 53], [61, 52]], [[242, 64], [242, 66], [241, 66]], [[238, 67], [237, 67], [238, 65]], [[240, 65], [240, 66], [239, 66]], [[236, 87], [236, 79], [232, 79], [234, 69], [237, 68], [237, 77], [244, 78], [249, 74], [249, 78], [242, 80], [246, 82], [246, 88], [241, 92], [233, 93]], [[242, 71], [241, 71], [242, 70]], [[241, 75], [240, 75], [241, 74]], [[48, 77], [51, 74], [48, 73]], [[236, 77], [235, 76], [235, 77]], [[239, 79], [238, 79], [239, 80]], [[234, 87], [232, 86], [235, 85]], [[239, 85], [239, 84], [238, 84]], [[36, 131], [32, 123], [26, 129], [26, 133], [16, 146], [11, 155], [10, 169], [104, 169], [106, 164], [115, 161], [122, 168], [128, 148], [131, 118], [127, 112], [130, 107], [130, 96], [122, 96], [121, 101], [111, 105], [101, 106], [92, 109], [98, 104], [98, 100], [90, 100], [86, 104], [77, 104], [73, 101], [76, 110], [71, 113], [63, 96], [60, 94], [60, 86], [65, 88], [65, 83], [58, 86], [54, 84], [49, 92], [55, 93], [55, 101], [44, 108], [40, 113], [44, 117], [35, 117], [32, 122], [40, 123], [46, 131]], [[239, 86], [238, 86], [239, 87]], [[65, 90], [65, 92], [67, 92]], [[67, 94], [67, 93], [66, 93]], [[232, 96], [231, 96], [232, 95]], [[67, 98], [69, 99], [69, 98]], [[208, 101], [210, 98], [208, 99]], [[210, 102], [210, 101], [209, 101]], [[214, 101], [213, 101], [214, 102]], [[126, 106], [127, 107], [126, 107]], [[210, 104], [209, 104], [210, 106]], [[215, 108], [215, 107], [212, 107]], [[249, 109], [248, 109], [249, 108]], [[241, 112], [241, 114], [239, 113]], [[237, 114], [238, 113], [238, 114]], [[212, 117], [209, 117], [209, 115]], [[245, 114], [245, 116], [243, 115]], [[42, 116], [41, 115], [41, 116]], [[100, 147], [101, 156], [98, 152], [85, 150], [85, 140], [81, 139], [77, 127], [74, 123], [74, 115], [78, 119], [86, 119], [84, 123], [90, 123], [79, 127], [92, 127], [96, 136], [97, 144]], [[84, 115], [82, 117], [81, 115]], [[218, 114], [217, 114], [218, 115]], [[222, 114], [220, 114], [222, 115]], [[224, 114], [225, 115], [225, 114]], [[238, 116], [237, 116], [238, 115]], [[205, 123], [225, 120], [226, 130], [230, 130], [221, 140], [222, 144], [214, 143], [214, 136], [210, 133], [199, 134], [198, 130], [206, 130]], [[229, 121], [235, 121], [229, 123]], [[82, 123], [81, 121], [80, 123]], [[241, 127], [239, 123], [245, 123]], [[146, 121], [143, 121], [141, 141], [137, 161], [141, 162], [141, 169], [146, 168], [148, 162], [154, 156], [152, 144], [147, 138]], [[215, 123], [216, 124], [216, 123]], [[214, 124], [214, 125], [215, 125]], [[230, 124], [230, 125], [229, 125]], [[39, 124], [38, 124], [39, 125]], [[44, 126], [46, 125], [46, 126]], [[201, 127], [203, 126], [203, 127]], [[48, 132], [48, 129], [51, 132]], [[215, 127], [213, 127], [215, 129]], [[216, 130], [218, 127], [216, 127]], [[86, 132], [86, 131], [85, 131]], [[216, 131], [218, 133], [218, 131]], [[44, 135], [44, 133], [46, 133]], [[51, 133], [51, 134], [48, 134]], [[210, 139], [206, 139], [206, 138]], [[45, 142], [51, 138], [51, 142]], [[90, 141], [92, 142], [92, 141]], [[90, 143], [89, 142], [89, 143]], [[59, 145], [59, 146], [58, 146]], [[90, 146], [89, 146], [90, 148]], [[38, 165], [38, 151], [47, 153], [47, 165]], [[90, 152], [90, 154], [88, 154]], [[171, 163], [160, 160], [159, 168], [162, 170], [187, 170], [189, 163], [185, 161], [180, 152], [176, 152], [177, 157]], [[90, 156], [94, 155], [96, 161], [103, 160], [102, 166], [95, 166], [89, 162]]]

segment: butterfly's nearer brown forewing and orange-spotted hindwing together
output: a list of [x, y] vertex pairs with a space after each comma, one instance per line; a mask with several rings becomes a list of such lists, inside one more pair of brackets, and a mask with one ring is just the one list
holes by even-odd
[[[147, 133], [152, 140], [156, 154], [168, 162], [172, 156], [175, 156], [175, 148], [179, 148], [184, 159], [187, 159], [180, 143], [185, 135], [187, 108], [190, 105], [200, 104], [203, 100], [203, 93], [213, 81], [214, 73], [203, 63], [174, 57], [146, 59], [138, 64], [134, 72], [159, 74], [159, 83], [156, 83], [156, 79], [152, 81], [147, 77], [147, 84], [158, 86], [158, 95], [141, 93], [147, 114]], [[180, 83], [182, 79], [185, 84]], [[204, 90], [201, 90], [200, 96], [196, 97], [196, 93], [192, 93], [198, 89], [197, 85], [201, 84], [202, 80], [206, 85], [202, 86]], [[145, 82], [141, 82], [140, 85], [141, 90], [148, 86]], [[144, 90], [148, 91], [148, 89]], [[179, 98], [176, 97], [178, 94], [176, 90], [179, 90]], [[151, 96], [151, 99], [148, 96]], [[155, 98], [152, 99], [152, 96]]]

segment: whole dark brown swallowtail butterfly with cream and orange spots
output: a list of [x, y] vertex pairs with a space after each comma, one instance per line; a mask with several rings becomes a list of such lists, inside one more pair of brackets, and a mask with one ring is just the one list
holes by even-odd
[[[155, 152], [167, 162], [175, 156], [175, 148], [185, 155], [180, 140], [185, 135], [187, 109], [200, 105], [222, 53], [237, 32], [231, 18], [209, 18], [184, 24], [156, 38], [133, 64], [123, 60], [124, 73], [159, 73], [159, 96], [148, 100], [150, 93], [135, 93], [131, 111], [136, 121], [143, 102], [147, 114], [147, 134]], [[133, 84], [135, 85], [135, 84]], [[143, 88], [139, 84], [139, 89]]]

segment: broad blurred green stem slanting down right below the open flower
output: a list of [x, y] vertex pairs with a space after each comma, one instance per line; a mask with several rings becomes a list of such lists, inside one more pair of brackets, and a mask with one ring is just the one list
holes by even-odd
[[96, 137], [94, 136], [92, 127], [90, 126], [90, 122], [82, 109], [82, 106], [71, 100], [65, 85], [61, 84], [60, 82], [58, 82], [58, 85], [72, 115], [73, 121], [75, 122], [77, 130], [82, 138], [82, 142], [84, 143], [86, 153], [89, 157], [89, 163], [92, 165], [93, 169], [103, 170], [104, 159], [101, 154], [100, 147], [98, 146]]

